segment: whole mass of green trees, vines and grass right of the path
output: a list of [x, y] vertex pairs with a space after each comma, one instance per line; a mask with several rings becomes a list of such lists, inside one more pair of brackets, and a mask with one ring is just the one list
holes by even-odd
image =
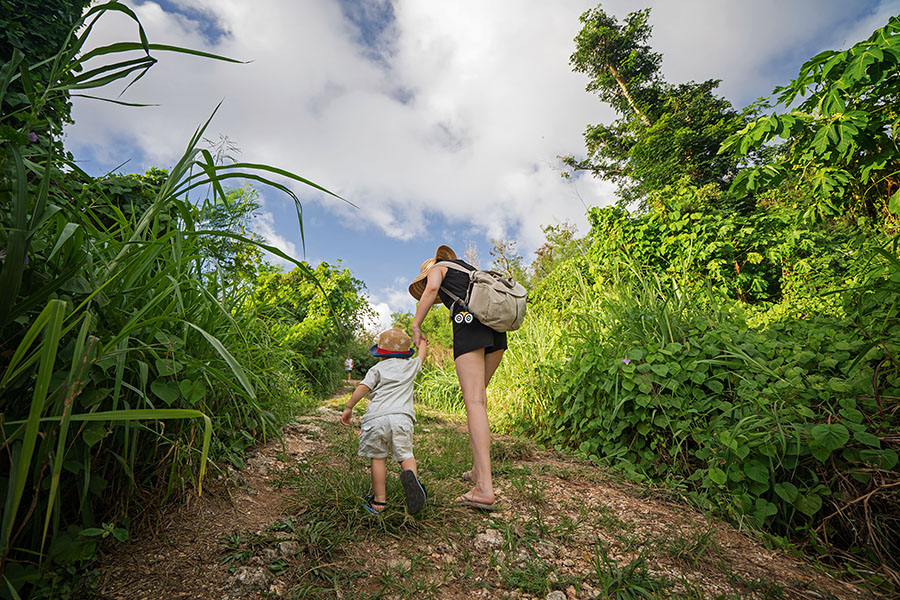
[[[811, 92], [797, 111], [729, 138], [751, 162], [777, 157], [739, 176], [734, 189], [755, 192], [740, 203], [722, 190], [733, 163], [697, 176], [632, 155], [643, 141], [673, 147], [650, 137], [656, 119], [677, 123], [660, 100], [673, 88], [654, 79], [645, 16], [621, 27], [599, 9], [587, 17], [578, 60], [623, 118], [596, 130], [592, 158], [607, 162], [571, 165], [648, 183], [632, 188], [644, 210], [591, 210], [587, 252], [535, 278], [488, 390], [492, 427], [666, 483], [896, 591], [900, 237], [885, 208], [897, 187], [897, 18], [807, 63], [782, 90], [787, 105]], [[638, 70], [619, 81], [617, 65]], [[712, 137], [736, 122], [716, 121], [730, 109], [712, 85], [685, 89], [692, 110], [722, 125]], [[763, 147], [782, 134], [786, 145]], [[660, 170], [635, 177], [641, 160]], [[786, 173], [797, 176], [762, 192]], [[426, 375], [427, 402], [450, 396], [449, 370]], [[595, 566], [609, 589], [652, 593], [638, 563], [598, 554]]]

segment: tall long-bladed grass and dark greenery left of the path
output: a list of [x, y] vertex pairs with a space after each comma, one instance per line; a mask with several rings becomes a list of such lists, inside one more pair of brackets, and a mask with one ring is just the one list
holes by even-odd
[[[246, 310], [253, 282], [237, 280], [235, 262], [252, 256], [250, 248], [293, 259], [242, 235], [252, 194], [228, 194], [223, 184], [244, 178], [270, 185], [298, 213], [296, 195], [272, 177], [315, 184], [265, 165], [216, 164], [198, 147], [209, 121], [170, 171], [142, 176], [91, 178], [52, 135], [28, 135], [55, 123], [58, 102], [73, 90], [102, 87], [155, 62], [150, 52], [160, 47], [146, 41], [139, 23], [140, 42], [79, 54], [109, 11], [137, 22], [122, 4], [94, 6], [58, 53], [26, 59], [14, 52], [0, 68], [4, 596], [43, 594], [31, 587], [39, 579], [51, 582], [51, 595], [62, 593], [61, 578], [96, 555], [98, 538], [124, 535], [109, 524], [127, 523], [135, 507], [159, 506], [187, 489], [199, 493], [209, 458], [239, 463], [243, 448], [274, 433], [304, 398], [289, 349]], [[131, 51], [141, 56], [120, 58]], [[96, 66], [98, 57], [109, 60]], [[37, 73], [46, 75], [40, 85]], [[16, 82], [26, 90], [34, 84], [34, 93], [23, 100]], [[209, 201], [188, 201], [192, 190], [206, 190]], [[216, 241], [223, 239], [229, 243]], [[223, 257], [232, 261], [227, 280], [209, 268]]]

